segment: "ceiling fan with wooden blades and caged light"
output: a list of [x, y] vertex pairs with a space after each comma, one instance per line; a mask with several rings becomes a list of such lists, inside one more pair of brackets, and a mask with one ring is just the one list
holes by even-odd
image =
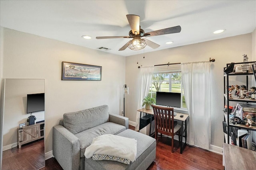
[[132, 38], [132, 40], [128, 41], [123, 47], [121, 47], [118, 51], [123, 51], [127, 47], [132, 50], [141, 50], [148, 45], [149, 47], [156, 49], [160, 45], [149, 41], [148, 39], [141, 37], [152, 37], [156, 35], [164, 35], [171, 33], [179, 33], [181, 31], [180, 25], [165, 29], [159, 29], [156, 31], [151, 31], [145, 33], [143, 29], [140, 28], [140, 16], [137, 15], [126, 15], [129, 25], [131, 27], [131, 31], [129, 32], [129, 36], [110, 36], [110, 37], [96, 37], [96, 39], [109, 39], [109, 38]]

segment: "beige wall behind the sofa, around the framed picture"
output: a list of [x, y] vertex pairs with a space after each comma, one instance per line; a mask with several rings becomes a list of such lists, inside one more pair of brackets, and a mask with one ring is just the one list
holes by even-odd
[[[3, 32], [1, 78], [45, 79], [46, 152], [52, 150], [52, 127], [63, 113], [107, 104], [111, 113], [120, 114], [125, 57], [12, 29]], [[102, 80], [61, 80], [62, 61], [102, 66]]]

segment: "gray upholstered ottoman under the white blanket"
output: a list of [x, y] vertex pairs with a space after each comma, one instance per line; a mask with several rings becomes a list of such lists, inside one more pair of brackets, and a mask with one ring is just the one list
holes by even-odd
[[156, 139], [142, 133], [126, 129], [118, 136], [137, 140], [137, 157], [130, 165], [111, 160], [85, 158], [85, 170], [146, 170], [156, 158]]

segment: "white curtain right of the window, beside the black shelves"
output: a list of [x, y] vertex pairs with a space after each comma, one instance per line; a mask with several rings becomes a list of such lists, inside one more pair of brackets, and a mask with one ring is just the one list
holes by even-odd
[[189, 145], [210, 149], [209, 61], [181, 63], [182, 83], [188, 107]]

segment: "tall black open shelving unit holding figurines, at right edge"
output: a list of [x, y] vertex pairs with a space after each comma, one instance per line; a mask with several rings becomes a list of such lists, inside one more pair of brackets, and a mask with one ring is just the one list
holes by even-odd
[[[236, 65], [243, 65], [243, 64], [251, 64], [251, 63], [255, 63], [255, 61], [253, 62], [246, 62], [246, 63], [235, 63]], [[227, 64], [228, 67], [229, 64]], [[227, 68], [226, 67], [226, 68]], [[224, 68], [225, 69], [225, 68]], [[240, 77], [240, 78], [238, 78]], [[233, 84], [230, 83], [230, 81], [232, 80]], [[238, 81], [239, 80], [239, 81]], [[239, 86], [241, 85], [246, 85], [247, 89], [250, 90], [251, 84], [250, 80], [255, 81], [254, 78], [254, 74], [251, 70], [246, 70], [244, 72], [239, 72], [239, 73], [235, 73], [235, 72], [231, 72], [231, 73], [224, 73], [224, 105], [226, 106], [226, 111], [224, 111], [224, 123], [226, 123], [227, 128], [225, 129], [225, 127], [223, 127], [223, 130], [225, 133], [227, 133], [227, 139], [225, 139], [225, 143], [230, 144], [230, 131], [232, 131], [232, 133], [234, 133], [234, 135], [236, 135], [236, 141], [238, 141], [237, 139], [237, 131], [238, 129], [245, 129], [245, 130], [250, 130], [250, 131], [256, 131], [256, 126], [252, 126], [249, 127], [248, 125], [245, 125], [245, 121], [246, 119], [246, 115], [245, 114], [252, 114], [254, 116], [255, 119], [255, 115], [256, 115], [256, 100], [247, 97], [238, 97], [236, 96], [236, 94], [233, 94], [232, 92], [229, 93], [229, 87], [231, 85], [236, 85], [234, 83], [237, 83]], [[242, 81], [242, 82], [241, 82]], [[240, 83], [240, 84], [239, 84]], [[248, 87], [249, 86], [249, 87]], [[238, 105], [237, 105], [238, 104]], [[244, 110], [244, 108], [241, 109], [240, 106], [248, 106], [248, 108], [245, 109], [250, 109], [248, 112], [246, 112], [246, 110]], [[229, 106], [236, 106], [235, 108], [238, 109], [237, 106], [239, 106], [240, 111], [236, 111], [236, 109], [233, 109], [231, 111], [231, 109], [229, 109]], [[249, 108], [249, 106], [251, 108]], [[230, 123], [230, 118], [232, 116], [237, 116], [240, 117], [242, 120], [241, 124], [232, 124]], [[254, 124], [255, 125], [255, 124]], [[223, 125], [224, 126], [224, 125]], [[231, 127], [231, 128], [230, 128]], [[233, 141], [234, 142], [234, 141]], [[236, 142], [238, 143], [238, 142]]]

